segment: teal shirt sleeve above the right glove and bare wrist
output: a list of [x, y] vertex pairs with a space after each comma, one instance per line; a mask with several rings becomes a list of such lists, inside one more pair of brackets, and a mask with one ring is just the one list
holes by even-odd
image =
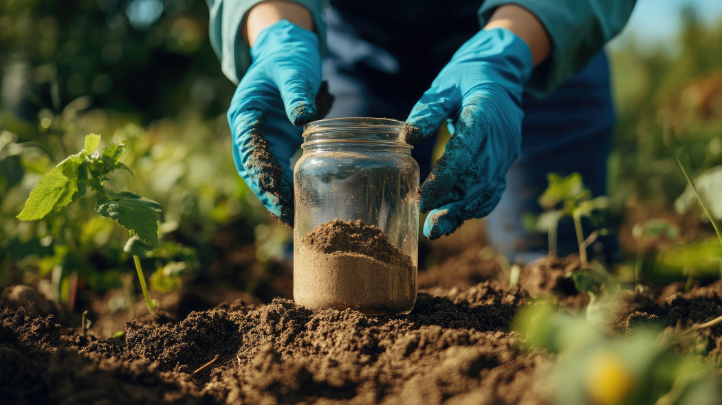
[[486, 0], [479, 21], [486, 25], [504, 4], [528, 9], [541, 21], [552, 40], [552, 52], [534, 68], [526, 91], [542, 98], [591, 61], [604, 44], [627, 23], [635, 0]]

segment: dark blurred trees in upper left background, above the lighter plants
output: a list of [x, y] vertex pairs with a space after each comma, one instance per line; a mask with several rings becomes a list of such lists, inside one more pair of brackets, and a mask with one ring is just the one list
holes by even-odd
[[218, 74], [202, 1], [4, 0], [0, 47], [3, 109], [25, 119], [79, 97], [141, 125], [214, 117], [233, 92]]

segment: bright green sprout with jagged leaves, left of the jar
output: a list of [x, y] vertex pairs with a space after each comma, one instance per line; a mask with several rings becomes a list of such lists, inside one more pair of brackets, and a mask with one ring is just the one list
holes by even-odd
[[38, 185], [30, 192], [25, 208], [17, 218], [22, 221], [45, 218], [45, 215], [52, 211], [61, 210], [84, 196], [90, 188], [97, 195], [95, 211], [118, 221], [131, 235], [124, 250], [133, 256], [150, 313], [157, 303], [148, 295], [140, 256], [147, 254], [153, 246], [158, 245], [158, 217], [162, 207], [155, 201], [133, 192], [108, 190], [103, 182], [111, 173], [116, 169], [126, 169], [130, 172], [128, 166], [118, 161], [125, 143], [121, 141], [103, 148], [102, 151], [96, 151], [98, 146], [100, 146], [100, 135], [87, 135], [82, 151], [69, 156], [43, 175]]

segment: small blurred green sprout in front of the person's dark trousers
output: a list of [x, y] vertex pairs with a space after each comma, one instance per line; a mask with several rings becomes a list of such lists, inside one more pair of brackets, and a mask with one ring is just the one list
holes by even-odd
[[539, 205], [545, 213], [539, 216], [539, 227], [546, 228], [549, 234], [549, 255], [557, 255], [557, 228], [559, 221], [565, 216], [574, 220], [574, 230], [579, 246], [579, 259], [587, 264], [586, 249], [596, 239], [604, 235], [606, 230], [593, 231], [586, 238], [582, 230], [582, 218], [593, 218], [594, 211], [606, 208], [606, 197], [591, 197], [591, 192], [584, 187], [582, 175], [572, 173], [561, 177], [556, 173], [549, 173], [549, 187], [539, 196]]

